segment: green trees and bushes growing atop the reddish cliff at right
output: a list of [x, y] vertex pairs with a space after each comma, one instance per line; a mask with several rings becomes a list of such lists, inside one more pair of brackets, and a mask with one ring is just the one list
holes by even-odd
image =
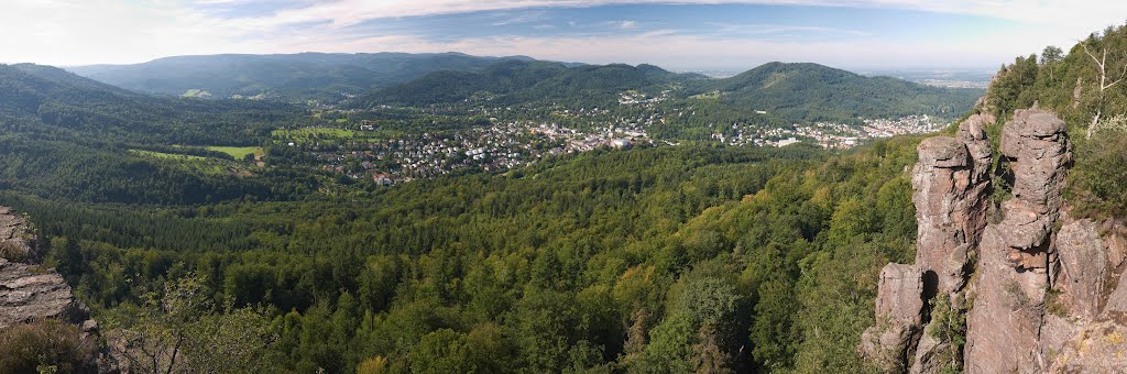
[[[1104, 64], [1101, 74], [1100, 64]], [[1124, 182], [1124, 117], [1127, 87], [1115, 83], [1127, 64], [1127, 27], [1093, 33], [1065, 55], [1046, 47], [1036, 55], [1018, 57], [999, 72], [986, 95], [986, 106], [1004, 122], [1014, 110], [1037, 103], [1057, 113], [1067, 124], [1074, 145], [1073, 170], [1066, 198], [1080, 216], [1122, 216], [1127, 195]], [[990, 134], [999, 139], [997, 127]], [[997, 144], [994, 144], [995, 149]], [[996, 160], [1001, 158], [995, 157]], [[1004, 164], [995, 164], [1004, 172]], [[1002, 173], [996, 173], [1001, 176]], [[1005, 197], [1005, 178], [995, 178], [995, 201]]]

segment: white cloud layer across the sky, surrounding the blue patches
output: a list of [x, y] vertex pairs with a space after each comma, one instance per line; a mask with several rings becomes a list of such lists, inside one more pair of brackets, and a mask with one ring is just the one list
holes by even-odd
[[[401, 35], [379, 35], [355, 27], [380, 19], [476, 11], [515, 15], [494, 21], [505, 26], [538, 21], [551, 8], [686, 3], [911, 9], [1004, 19], [1020, 24], [1021, 28], [951, 44], [917, 41], [908, 45], [881, 42], [864, 32], [833, 25], [720, 25], [708, 35], [684, 35], [672, 29], [648, 30], [638, 21], [619, 20], [604, 25], [616, 28], [611, 35], [450, 35], [441, 42], [409, 30], [390, 32]], [[1127, 15], [1127, 2], [1079, 0], [287, 0], [284, 6], [268, 0], [6, 0], [2, 8], [0, 35], [8, 37], [0, 38], [3, 51], [0, 60], [47, 64], [134, 63], [168, 55], [214, 53], [459, 51], [565, 61], [651, 62], [680, 68], [729, 61], [726, 59], [747, 66], [772, 60], [854, 66], [895, 66], [920, 61], [993, 66], [1013, 55], [1040, 51], [1046, 44], [1067, 47], [1090, 32], [1122, 24], [1122, 15]], [[215, 12], [234, 8], [239, 12]], [[562, 29], [584, 26], [574, 20], [561, 25], [570, 26]], [[793, 34], [852, 37], [833, 41], [815, 37], [801, 43], [765, 37]]]

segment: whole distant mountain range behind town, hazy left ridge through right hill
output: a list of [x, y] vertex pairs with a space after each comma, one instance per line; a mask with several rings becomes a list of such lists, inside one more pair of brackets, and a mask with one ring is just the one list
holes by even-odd
[[864, 77], [815, 63], [772, 62], [712, 79], [641, 64], [587, 65], [526, 56], [461, 53], [178, 56], [135, 65], [70, 68], [126, 90], [170, 96], [317, 99], [348, 108], [426, 106], [467, 101], [495, 105], [618, 105], [638, 91], [676, 100], [717, 100], [725, 110], [769, 116], [777, 123], [859, 123], [914, 114], [957, 117], [984, 92], [888, 77]]

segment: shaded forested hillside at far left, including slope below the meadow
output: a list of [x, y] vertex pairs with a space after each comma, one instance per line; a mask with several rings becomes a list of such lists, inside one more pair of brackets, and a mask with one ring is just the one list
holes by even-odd
[[[284, 196], [270, 189], [287, 182], [267, 184], [204, 146], [256, 144], [302, 114], [278, 103], [148, 97], [56, 68], [0, 65], [0, 188], [130, 204]], [[208, 158], [212, 167], [168, 162], [161, 152]]]

